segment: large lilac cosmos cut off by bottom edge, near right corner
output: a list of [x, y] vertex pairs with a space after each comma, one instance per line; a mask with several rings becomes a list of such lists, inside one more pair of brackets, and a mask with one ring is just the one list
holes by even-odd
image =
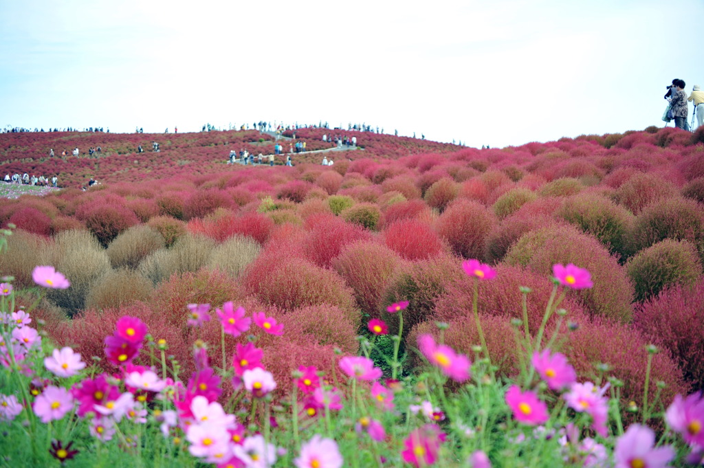
[[615, 468], [665, 468], [674, 458], [670, 445], [653, 448], [655, 432], [647, 426], [631, 424], [616, 442]]

